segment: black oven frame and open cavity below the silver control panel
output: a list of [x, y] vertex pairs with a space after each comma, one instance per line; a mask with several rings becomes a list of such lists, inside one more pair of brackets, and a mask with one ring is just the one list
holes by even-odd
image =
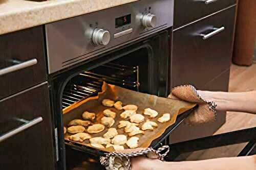
[[[144, 93], [167, 96], [169, 34], [170, 30], [162, 31], [50, 75], [52, 80], [50, 91], [58, 136], [58, 169], [88, 166], [90, 169], [100, 168], [99, 156], [104, 153], [65, 141], [63, 123], [67, 122], [67, 117], [62, 114], [63, 110], [74, 102], [97, 93], [98, 83], [106, 81]], [[113, 71], [116, 68], [129, 68], [130, 71], [120, 69], [124, 72], [120, 71], [121, 74], [117, 75], [113, 73], [119, 72]], [[133, 69], [137, 71], [135, 74], [126, 75], [127, 72], [133, 72], [131, 71]], [[119, 78], [120, 75], [123, 77]], [[88, 84], [91, 90], [95, 91], [85, 91], [85, 88], [88, 89]], [[158, 143], [155, 141], [154, 145]]]

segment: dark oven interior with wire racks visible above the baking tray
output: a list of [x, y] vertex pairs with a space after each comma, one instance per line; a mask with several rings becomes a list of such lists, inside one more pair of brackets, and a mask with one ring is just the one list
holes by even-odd
[[103, 81], [148, 93], [148, 69], [151, 69], [148, 65], [148, 54], [150, 53], [147, 48], [140, 48], [112, 62], [81, 72], [66, 85], [62, 95], [62, 109], [97, 95], [101, 91]]

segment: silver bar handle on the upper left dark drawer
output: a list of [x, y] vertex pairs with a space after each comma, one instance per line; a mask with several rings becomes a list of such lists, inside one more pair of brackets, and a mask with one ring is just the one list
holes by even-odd
[[8, 73], [16, 71], [16, 70], [19, 70], [19, 69], [23, 69], [23, 68], [29, 67], [31, 65], [35, 65], [36, 63], [37, 63], [36, 59], [31, 59], [31, 60], [24, 61], [24, 62], [19, 63], [19, 64], [12, 65], [10, 67], [1, 69], [0, 70], [0, 76], [8, 74]]

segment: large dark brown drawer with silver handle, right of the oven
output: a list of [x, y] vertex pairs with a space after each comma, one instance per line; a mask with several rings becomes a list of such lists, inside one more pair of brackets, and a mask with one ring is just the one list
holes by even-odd
[[173, 32], [172, 87], [193, 84], [203, 89], [229, 69], [235, 11], [229, 8]]

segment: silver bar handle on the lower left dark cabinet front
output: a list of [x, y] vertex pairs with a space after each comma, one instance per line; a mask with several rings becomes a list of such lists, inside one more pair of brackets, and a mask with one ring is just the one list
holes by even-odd
[[42, 122], [42, 117], [37, 117], [37, 118], [34, 118], [33, 120], [25, 120], [25, 119], [18, 119], [16, 118], [16, 120], [18, 120], [19, 122], [23, 122], [25, 124], [23, 124], [22, 126], [19, 126], [18, 128], [15, 128], [3, 135], [0, 136], [0, 142], [10, 138], [11, 136], [13, 135], [16, 135], [17, 133], [19, 132], [22, 132], [22, 131], [25, 131], [26, 129]]

